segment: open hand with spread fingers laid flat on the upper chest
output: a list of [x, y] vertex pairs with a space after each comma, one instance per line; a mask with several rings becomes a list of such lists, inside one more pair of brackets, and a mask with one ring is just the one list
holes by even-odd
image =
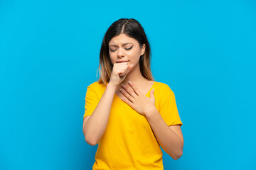
[[137, 86], [129, 81], [129, 86], [122, 84], [120, 91], [124, 95], [124, 98], [121, 98], [121, 100], [142, 115], [146, 116], [147, 113], [150, 113], [155, 108], [154, 89], [150, 91], [150, 98], [148, 98], [139, 91]]

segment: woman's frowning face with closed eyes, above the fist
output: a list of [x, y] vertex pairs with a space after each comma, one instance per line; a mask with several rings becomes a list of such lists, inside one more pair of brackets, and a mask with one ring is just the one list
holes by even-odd
[[139, 47], [139, 42], [121, 33], [109, 42], [109, 53], [112, 64], [118, 62], [127, 62], [134, 64], [134, 67], [139, 63], [139, 57], [144, 54], [146, 45]]

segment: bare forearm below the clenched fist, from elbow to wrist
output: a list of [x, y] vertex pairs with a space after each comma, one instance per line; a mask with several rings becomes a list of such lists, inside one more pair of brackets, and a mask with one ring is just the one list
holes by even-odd
[[90, 118], [83, 127], [85, 140], [90, 141], [93, 145], [97, 144], [107, 128], [114, 92], [114, 87], [107, 86], [102, 98], [100, 98], [100, 101], [95, 108], [95, 111], [93, 111], [92, 115], [90, 115]]

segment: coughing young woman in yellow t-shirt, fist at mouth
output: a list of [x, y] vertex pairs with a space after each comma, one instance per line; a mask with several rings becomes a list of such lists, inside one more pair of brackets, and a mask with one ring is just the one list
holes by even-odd
[[154, 81], [150, 46], [141, 24], [119, 19], [105, 33], [100, 79], [87, 86], [82, 131], [97, 145], [92, 169], [164, 169], [160, 146], [183, 153], [174, 92]]

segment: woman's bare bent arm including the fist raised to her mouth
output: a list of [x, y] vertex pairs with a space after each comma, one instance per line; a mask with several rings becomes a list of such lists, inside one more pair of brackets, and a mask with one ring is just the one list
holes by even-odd
[[84, 120], [86, 122], [82, 125], [82, 132], [85, 135], [85, 141], [89, 145], [96, 145], [104, 134], [110, 118], [110, 109], [114, 93], [119, 84], [124, 81], [132, 67], [133, 64], [128, 64], [128, 62], [114, 63], [110, 82], [107, 84], [104, 94], [100, 98], [95, 111], [92, 112], [90, 118]]

